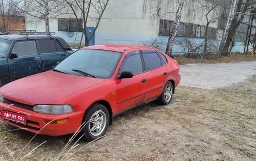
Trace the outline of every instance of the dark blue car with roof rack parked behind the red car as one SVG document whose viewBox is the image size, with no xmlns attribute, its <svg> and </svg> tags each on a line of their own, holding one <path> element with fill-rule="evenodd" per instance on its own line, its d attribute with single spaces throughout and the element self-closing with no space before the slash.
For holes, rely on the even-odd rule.
<svg viewBox="0 0 256 161">
<path fill-rule="evenodd" d="M 73 50 L 52 35 L 0 35 L 0 86 L 50 70 Z"/>
</svg>

